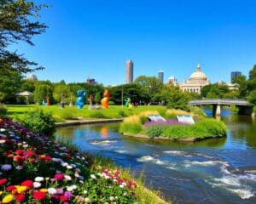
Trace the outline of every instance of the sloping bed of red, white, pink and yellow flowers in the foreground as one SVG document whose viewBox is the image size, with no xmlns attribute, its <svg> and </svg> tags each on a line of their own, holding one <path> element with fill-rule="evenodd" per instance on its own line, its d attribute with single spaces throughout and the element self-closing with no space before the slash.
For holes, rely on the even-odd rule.
<svg viewBox="0 0 256 204">
<path fill-rule="evenodd" d="M 0 118 L 0 203 L 137 203 L 137 184 Z M 2 201 L 2 202 L 1 202 Z"/>
</svg>

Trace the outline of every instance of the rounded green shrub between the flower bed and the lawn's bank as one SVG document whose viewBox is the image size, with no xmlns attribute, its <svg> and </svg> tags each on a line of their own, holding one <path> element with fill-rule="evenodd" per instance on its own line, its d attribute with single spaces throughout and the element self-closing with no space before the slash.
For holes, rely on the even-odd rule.
<svg viewBox="0 0 256 204">
<path fill-rule="evenodd" d="M 55 133 L 55 121 L 50 113 L 44 113 L 43 110 L 36 109 L 28 111 L 22 118 L 18 118 L 26 128 L 34 133 L 40 133 L 47 136 L 53 136 Z"/>
</svg>

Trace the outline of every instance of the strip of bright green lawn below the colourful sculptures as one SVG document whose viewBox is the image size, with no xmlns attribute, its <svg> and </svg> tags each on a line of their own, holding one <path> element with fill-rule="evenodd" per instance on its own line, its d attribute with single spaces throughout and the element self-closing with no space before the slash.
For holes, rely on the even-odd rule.
<svg viewBox="0 0 256 204">
<path fill-rule="evenodd" d="M 51 112 L 56 122 L 63 122 L 66 119 L 72 118 L 121 118 L 124 116 L 131 116 L 138 114 L 143 111 L 166 111 L 165 106 L 160 105 L 142 105 L 137 108 L 129 110 L 125 106 L 122 108 L 121 105 L 110 105 L 108 109 L 102 110 L 89 110 L 88 105 L 84 105 L 83 109 L 77 109 L 75 107 L 65 107 L 61 109 L 59 105 L 7 105 L 8 116 L 10 117 L 22 117 L 26 114 L 26 111 L 32 111 L 34 109 L 42 109 L 45 112 Z"/>
</svg>

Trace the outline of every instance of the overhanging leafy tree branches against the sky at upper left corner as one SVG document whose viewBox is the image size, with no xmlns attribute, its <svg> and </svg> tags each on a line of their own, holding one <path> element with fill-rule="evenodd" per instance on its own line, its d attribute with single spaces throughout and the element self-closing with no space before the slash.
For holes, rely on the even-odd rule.
<svg viewBox="0 0 256 204">
<path fill-rule="evenodd" d="M 23 54 L 8 50 L 14 43 L 26 42 L 34 45 L 32 37 L 45 31 L 46 25 L 36 19 L 46 5 L 36 5 L 26 0 L 0 0 L 0 71 L 26 73 L 43 69 Z"/>
</svg>

